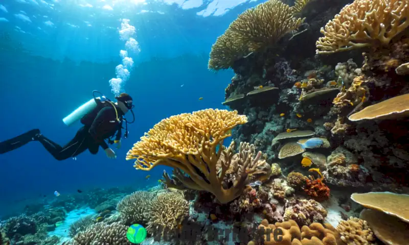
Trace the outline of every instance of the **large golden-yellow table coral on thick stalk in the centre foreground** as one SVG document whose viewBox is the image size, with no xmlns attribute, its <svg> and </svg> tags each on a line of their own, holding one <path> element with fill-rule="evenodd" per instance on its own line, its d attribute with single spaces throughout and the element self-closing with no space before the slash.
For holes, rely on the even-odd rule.
<svg viewBox="0 0 409 245">
<path fill-rule="evenodd" d="M 233 186 L 223 188 L 224 176 L 232 163 L 222 161 L 221 170 L 216 167 L 225 149 L 223 140 L 231 136 L 231 129 L 246 122 L 247 117 L 238 115 L 237 111 L 218 109 L 171 116 L 145 133 L 129 150 L 126 159 L 136 159 L 134 167 L 141 170 L 157 165 L 181 170 L 189 176 L 180 180 L 185 186 L 209 191 L 219 202 L 228 203 L 241 194 L 247 176 L 256 170 L 255 162 L 261 156 L 261 152 L 254 158 L 250 154 L 248 160 L 243 161 Z"/>
</svg>

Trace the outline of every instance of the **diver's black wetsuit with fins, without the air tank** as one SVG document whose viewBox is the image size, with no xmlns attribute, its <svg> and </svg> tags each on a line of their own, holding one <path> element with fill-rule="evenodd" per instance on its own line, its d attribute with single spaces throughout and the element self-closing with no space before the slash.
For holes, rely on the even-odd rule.
<svg viewBox="0 0 409 245">
<path fill-rule="evenodd" d="M 97 107 L 81 118 L 81 123 L 84 126 L 81 127 L 74 138 L 64 146 L 60 146 L 39 134 L 39 130 L 31 130 L 13 139 L 1 142 L 0 153 L 3 154 L 12 151 L 30 141 L 36 140 L 57 160 L 78 156 L 87 149 L 91 154 L 97 154 L 100 145 L 104 150 L 108 148 L 104 140 L 115 135 L 117 131 L 115 140 L 121 138 L 124 114 L 117 105 L 115 105 L 115 107 L 120 122 L 117 120 L 116 111 L 112 105 L 105 105 L 102 109 L 101 107 Z"/>
</svg>

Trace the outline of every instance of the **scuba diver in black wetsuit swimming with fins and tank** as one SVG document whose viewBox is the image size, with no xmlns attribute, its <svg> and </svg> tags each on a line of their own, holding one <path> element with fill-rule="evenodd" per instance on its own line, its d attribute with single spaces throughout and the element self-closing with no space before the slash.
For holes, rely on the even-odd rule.
<svg viewBox="0 0 409 245">
<path fill-rule="evenodd" d="M 98 91 L 94 90 L 93 95 L 95 92 Z M 124 118 L 124 115 L 131 110 L 133 115 L 132 122 L 134 122 L 135 116 L 132 111 L 134 107 L 132 97 L 129 94 L 121 93 L 119 96 L 116 96 L 115 99 L 117 99 L 117 103 L 112 103 L 105 96 L 95 97 L 94 95 L 94 99 L 87 103 L 88 105 L 93 104 L 91 106 L 92 108 L 88 106 L 88 109 L 85 109 L 88 110 L 85 111 L 87 113 L 82 112 L 85 115 L 82 114 L 82 116 L 81 113 L 77 113 L 76 115 L 76 111 L 74 111 L 72 114 L 77 118 L 74 118 L 72 121 L 82 116 L 81 124 L 83 124 L 83 126 L 77 131 L 74 138 L 64 146 L 60 146 L 46 136 L 43 136 L 39 129 L 33 129 L 15 138 L 0 142 L 0 154 L 20 148 L 28 142 L 39 141 L 44 148 L 59 161 L 71 157 L 74 158 L 87 149 L 91 154 L 95 155 L 98 153 L 99 146 L 104 149 L 108 158 L 116 158 L 115 152 L 108 147 L 105 139 L 108 139 L 108 143 L 110 144 L 116 143 L 117 149 L 119 149 L 121 147 L 123 121 L 126 122 L 124 138 L 128 137 L 128 121 Z M 84 106 L 86 106 L 86 104 L 84 104 Z M 67 124 L 65 118 L 64 123 Z M 115 135 L 115 133 L 117 134 Z M 115 136 L 115 140 L 111 139 L 113 136 Z"/>
</svg>

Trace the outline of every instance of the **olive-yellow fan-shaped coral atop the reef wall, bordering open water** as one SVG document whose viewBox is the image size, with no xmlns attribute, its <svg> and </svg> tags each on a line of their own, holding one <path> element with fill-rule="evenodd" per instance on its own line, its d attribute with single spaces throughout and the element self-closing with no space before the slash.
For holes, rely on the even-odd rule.
<svg viewBox="0 0 409 245">
<path fill-rule="evenodd" d="M 209 69 L 228 69 L 238 58 L 274 45 L 303 23 L 304 19 L 293 16 L 295 12 L 297 8 L 290 8 L 279 0 L 246 10 L 213 44 Z"/>
</svg>

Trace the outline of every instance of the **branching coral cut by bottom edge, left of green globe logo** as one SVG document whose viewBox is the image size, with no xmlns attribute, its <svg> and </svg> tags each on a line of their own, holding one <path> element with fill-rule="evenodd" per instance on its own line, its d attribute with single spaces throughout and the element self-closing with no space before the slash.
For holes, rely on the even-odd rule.
<svg viewBox="0 0 409 245">
<path fill-rule="evenodd" d="M 79 232 L 66 245 L 82 244 L 109 244 L 109 245 L 131 245 L 126 238 L 128 226 L 120 223 L 97 223 Z"/>
</svg>

